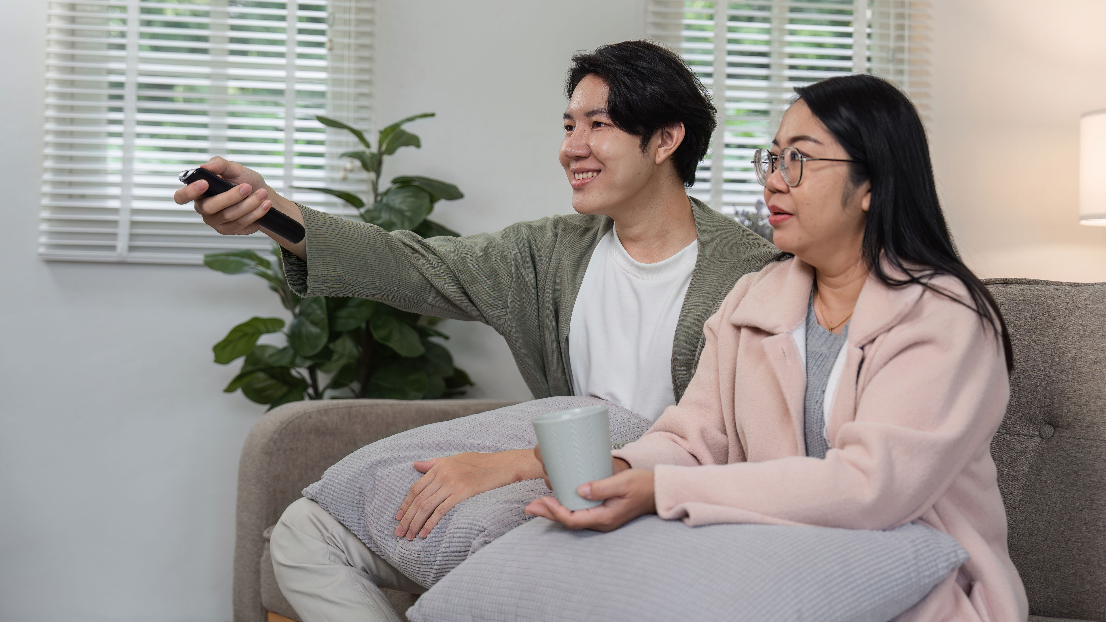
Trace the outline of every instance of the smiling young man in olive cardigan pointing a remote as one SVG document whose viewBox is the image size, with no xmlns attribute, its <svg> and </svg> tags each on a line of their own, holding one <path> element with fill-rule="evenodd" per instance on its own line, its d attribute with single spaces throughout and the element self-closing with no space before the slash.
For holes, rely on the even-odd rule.
<svg viewBox="0 0 1106 622">
<path fill-rule="evenodd" d="M 197 182 L 176 200 L 196 200 L 226 235 L 257 231 L 276 208 L 306 228 L 296 245 L 274 238 L 301 296 L 484 322 L 507 339 L 534 397 L 593 395 L 656 419 L 695 372 L 703 322 L 776 249 L 687 196 L 716 111 L 679 56 L 645 41 L 604 45 L 573 58 L 567 94 L 560 156 L 572 216 L 422 239 L 291 203 L 222 158 L 205 167 L 238 188 L 198 199 L 207 186 Z M 396 536 L 408 539 L 473 495 L 542 475 L 530 449 L 415 467 L 426 475 L 397 514 Z M 285 511 L 271 547 L 278 582 L 305 621 L 398 620 L 377 588 L 422 591 L 307 499 Z"/>
</svg>

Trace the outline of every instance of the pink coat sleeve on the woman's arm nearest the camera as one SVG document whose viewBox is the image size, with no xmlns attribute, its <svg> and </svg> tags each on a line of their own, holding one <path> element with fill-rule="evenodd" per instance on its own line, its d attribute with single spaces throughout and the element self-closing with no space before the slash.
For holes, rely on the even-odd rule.
<svg viewBox="0 0 1106 622">
<path fill-rule="evenodd" d="M 989 450 L 1010 395 L 990 326 L 962 304 L 931 292 L 922 298 L 927 304 L 877 339 L 858 380 L 855 419 L 837 429 L 825 459 L 659 465 L 657 514 L 690 525 L 855 529 L 920 517 Z"/>
</svg>

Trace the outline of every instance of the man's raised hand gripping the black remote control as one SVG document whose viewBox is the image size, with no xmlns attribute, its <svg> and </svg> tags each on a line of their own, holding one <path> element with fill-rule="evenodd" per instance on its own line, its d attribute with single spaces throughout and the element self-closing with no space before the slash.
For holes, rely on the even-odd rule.
<svg viewBox="0 0 1106 622">
<path fill-rule="evenodd" d="M 273 191 L 257 170 L 237 162 L 216 156 L 201 168 L 215 173 L 236 187 L 221 195 L 204 197 L 207 182 L 194 182 L 173 195 L 178 205 L 194 201 L 196 211 L 204 217 L 204 221 L 225 236 L 247 236 L 260 230 L 295 256 L 306 259 L 305 239 L 292 243 L 257 225 L 257 220 L 273 207 L 302 225 L 303 214 L 299 206 Z"/>
</svg>

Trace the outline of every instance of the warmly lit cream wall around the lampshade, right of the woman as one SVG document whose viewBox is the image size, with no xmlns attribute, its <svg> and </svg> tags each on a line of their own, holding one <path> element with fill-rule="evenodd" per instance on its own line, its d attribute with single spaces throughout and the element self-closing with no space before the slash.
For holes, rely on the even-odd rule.
<svg viewBox="0 0 1106 622">
<path fill-rule="evenodd" d="M 933 8 L 933 166 L 968 265 L 1106 281 L 1106 227 L 1078 224 L 1079 114 L 1106 108 L 1106 3 Z"/>
</svg>

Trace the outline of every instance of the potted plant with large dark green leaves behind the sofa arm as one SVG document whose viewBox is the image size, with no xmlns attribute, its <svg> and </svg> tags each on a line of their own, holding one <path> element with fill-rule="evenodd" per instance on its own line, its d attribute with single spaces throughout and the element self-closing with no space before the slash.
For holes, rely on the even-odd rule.
<svg viewBox="0 0 1106 622">
<path fill-rule="evenodd" d="M 422 237 L 460 234 L 430 220 L 439 200 L 461 198 L 457 186 L 419 176 L 392 179 L 379 187 L 384 159 L 400 147 L 420 147 L 419 137 L 403 126 L 424 113 L 380 129 L 374 149 L 364 132 L 345 123 L 317 116 L 320 123 L 349 131 L 364 149 L 347 152 L 368 173 L 371 200 L 344 190 L 304 188 L 341 198 L 357 209 L 366 222 L 388 231 L 407 229 Z M 356 165 L 354 165 L 356 166 Z M 215 362 L 242 366 L 223 390 L 241 391 L 246 397 L 270 408 L 300 400 L 336 397 L 388 397 L 421 400 L 462 394 L 472 381 L 453 365 L 449 351 L 437 339 L 449 339 L 437 330 L 438 318 L 408 313 L 382 302 L 358 298 L 301 298 L 289 287 L 280 247 L 274 259 L 252 250 L 212 252 L 204 263 L 227 274 L 252 273 L 269 283 L 291 313 L 281 318 L 250 318 L 215 344 Z M 258 343 L 264 334 L 283 333 L 286 345 Z"/>
</svg>

